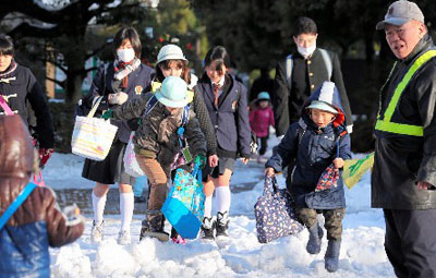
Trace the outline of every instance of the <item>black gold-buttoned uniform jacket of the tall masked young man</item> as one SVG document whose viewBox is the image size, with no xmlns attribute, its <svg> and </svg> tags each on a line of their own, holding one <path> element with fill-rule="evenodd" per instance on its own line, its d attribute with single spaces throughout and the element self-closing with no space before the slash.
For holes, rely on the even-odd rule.
<svg viewBox="0 0 436 278">
<path fill-rule="evenodd" d="M 352 125 L 353 122 L 350 102 L 348 100 L 346 86 L 343 85 L 339 58 L 335 52 L 328 51 L 328 53 L 332 63 L 330 81 L 334 82 L 339 89 L 343 112 L 347 119 L 346 124 L 349 126 Z M 289 90 L 286 74 L 286 59 L 279 61 L 276 67 L 272 105 L 276 119 L 276 134 L 278 136 L 287 132 L 289 124 L 299 120 L 301 108 L 311 94 L 320 86 L 323 82 L 329 81 L 327 67 L 318 49 L 315 49 L 312 57 L 307 60 L 304 60 L 304 57 L 299 52 L 293 53 L 292 59 L 291 92 Z"/>
</svg>

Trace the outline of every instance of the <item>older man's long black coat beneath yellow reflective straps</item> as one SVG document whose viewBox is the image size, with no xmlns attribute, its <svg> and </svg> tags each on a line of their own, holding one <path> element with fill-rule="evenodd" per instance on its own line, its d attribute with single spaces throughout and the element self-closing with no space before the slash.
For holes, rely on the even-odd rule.
<svg viewBox="0 0 436 278">
<path fill-rule="evenodd" d="M 435 49 L 428 36 L 412 53 L 398 61 L 382 88 L 380 117 L 393 89 L 413 61 Z M 434 209 L 436 190 L 417 190 L 417 181 L 436 185 L 436 58 L 422 65 L 402 93 L 391 121 L 424 128 L 424 136 L 410 136 L 375 130 L 376 144 L 372 174 L 372 206 L 388 209 Z"/>
</svg>

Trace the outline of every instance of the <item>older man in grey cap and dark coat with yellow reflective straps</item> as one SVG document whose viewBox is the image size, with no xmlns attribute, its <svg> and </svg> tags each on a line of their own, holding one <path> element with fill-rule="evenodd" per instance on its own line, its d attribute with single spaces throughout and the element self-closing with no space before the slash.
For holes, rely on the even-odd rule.
<svg viewBox="0 0 436 278">
<path fill-rule="evenodd" d="M 393 2 L 376 28 L 398 60 L 380 90 L 372 206 L 396 275 L 436 277 L 436 48 L 414 2 Z"/>
</svg>

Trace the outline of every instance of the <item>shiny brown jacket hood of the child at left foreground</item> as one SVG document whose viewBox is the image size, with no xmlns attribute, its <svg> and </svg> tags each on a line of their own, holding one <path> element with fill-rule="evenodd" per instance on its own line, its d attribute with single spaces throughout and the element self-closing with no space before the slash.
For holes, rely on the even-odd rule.
<svg viewBox="0 0 436 278">
<path fill-rule="evenodd" d="M 29 178 L 34 164 L 31 134 L 20 116 L 0 117 L 0 178 Z"/>
</svg>

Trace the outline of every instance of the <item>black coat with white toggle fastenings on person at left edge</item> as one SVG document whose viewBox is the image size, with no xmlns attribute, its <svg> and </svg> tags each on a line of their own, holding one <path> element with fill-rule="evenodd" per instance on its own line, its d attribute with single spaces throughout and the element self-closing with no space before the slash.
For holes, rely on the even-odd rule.
<svg viewBox="0 0 436 278">
<path fill-rule="evenodd" d="M 36 117 L 36 126 L 33 126 L 33 129 L 36 132 L 35 136 L 38 140 L 39 147 L 55 147 L 53 121 L 50 109 L 44 90 L 34 74 L 29 69 L 19 64 L 11 77 L 15 77 L 15 80 L 10 80 L 9 83 L 0 82 L 0 94 L 5 98 L 11 110 L 19 113 L 27 125 L 29 125 L 27 121 L 29 117 L 27 105 L 29 104 Z M 2 108 L 0 109 L 3 111 Z M 0 114 L 4 114 L 4 112 L 0 112 Z"/>
</svg>

